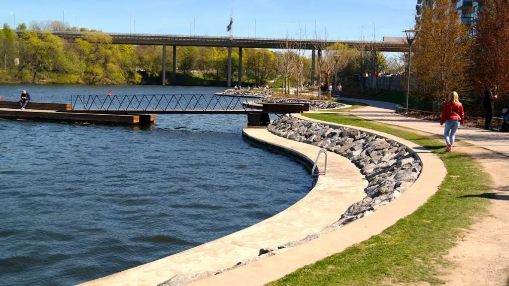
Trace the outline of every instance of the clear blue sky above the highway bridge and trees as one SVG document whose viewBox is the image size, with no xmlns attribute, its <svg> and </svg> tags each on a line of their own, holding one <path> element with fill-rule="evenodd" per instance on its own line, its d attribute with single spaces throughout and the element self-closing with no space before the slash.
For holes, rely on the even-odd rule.
<svg viewBox="0 0 509 286">
<path fill-rule="evenodd" d="M 31 20 L 62 20 L 74 26 L 102 29 L 104 32 L 189 35 L 195 18 L 196 35 L 223 36 L 233 9 L 234 36 L 259 38 L 298 35 L 299 22 L 307 38 L 327 30 L 328 39 L 357 40 L 364 32 L 378 40 L 383 36 L 403 37 L 403 30 L 414 22 L 414 0 L 325 0 L 318 4 L 303 0 L 116 0 L 2 1 L 0 21 L 16 25 Z M 130 25 L 130 15 L 132 22 Z M 375 24 L 373 24 L 375 22 Z M 135 27 L 134 27 L 135 25 Z M 364 26 L 362 28 L 362 26 Z"/>
</svg>

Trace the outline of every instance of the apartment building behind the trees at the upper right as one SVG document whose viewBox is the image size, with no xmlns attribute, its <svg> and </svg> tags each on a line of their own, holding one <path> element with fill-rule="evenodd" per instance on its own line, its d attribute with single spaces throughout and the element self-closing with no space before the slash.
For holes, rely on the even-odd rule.
<svg viewBox="0 0 509 286">
<path fill-rule="evenodd" d="M 456 3 L 456 9 L 461 22 L 471 27 L 473 32 L 477 24 L 478 12 L 483 9 L 484 0 L 451 0 L 451 2 Z M 433 3 L 434 0 L 417 0 L 417 5 L 415 5 L 415 20 L 420 19 L 422 16 L 422 7 L 433 7 Z"/>
</svg>

